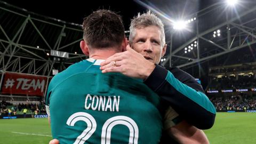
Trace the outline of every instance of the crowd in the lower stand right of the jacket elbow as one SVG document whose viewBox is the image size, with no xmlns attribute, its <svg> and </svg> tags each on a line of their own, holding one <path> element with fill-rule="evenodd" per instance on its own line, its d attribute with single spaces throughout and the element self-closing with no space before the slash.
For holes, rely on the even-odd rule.
<svg viewBox="0 0 256 144">
<path fill-rule="evenodd" d="M 246 111 L 256 110 L 256 99 L 247 94 L 241 93 L 228 97 L 213 97 L 211 98 L 213 105 L 217 111 Z"/>
</svg>

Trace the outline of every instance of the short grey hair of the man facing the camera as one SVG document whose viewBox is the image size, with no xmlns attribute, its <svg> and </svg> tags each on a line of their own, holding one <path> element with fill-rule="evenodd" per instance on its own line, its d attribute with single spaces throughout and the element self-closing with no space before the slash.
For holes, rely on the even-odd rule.
<svg viewBox="0 0 256 144">
<path fill-rule="evenodd" d="M 157 26 L 161 31 L 161 45 L 165 44 L 165 34 L 164 34 L 164 24 L 161 19 L 159 19 L 156 14 L 151 11 L 147 13 L 140 14 L 138 13 L 131 21 L 130 26 L 130 36 L 129 43 L 133 43 L 133 39 L 136 35 L 136 29 L 145 28 L 149 26 Z"/>
</svg>

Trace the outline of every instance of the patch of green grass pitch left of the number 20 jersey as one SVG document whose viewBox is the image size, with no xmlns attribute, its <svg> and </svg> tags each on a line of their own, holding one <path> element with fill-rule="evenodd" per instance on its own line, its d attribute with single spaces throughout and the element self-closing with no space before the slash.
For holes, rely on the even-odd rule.
<svg viewBox="0 0 256 144">
<path fill-rule="evenodd" d="M 51 139 L 47 118 L 0 119 L 0 143 L 47 144 Z"/>
</svg>

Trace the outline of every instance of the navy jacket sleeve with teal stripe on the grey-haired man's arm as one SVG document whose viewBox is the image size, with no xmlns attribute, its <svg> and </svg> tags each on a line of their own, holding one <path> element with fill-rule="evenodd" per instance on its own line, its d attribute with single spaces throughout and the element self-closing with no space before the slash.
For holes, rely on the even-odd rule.
<svg viewBox="0 0 256 144">
<path fill-rule="evenodd" d="M 210 129 L 216 115 L 212 102 L 192 76 L 179 69 L 176 74 L 179 79 L 170 71 L 156 65 L 144 83 L 167 101 L 188 123 L 198 129 Z"/>
</svg>

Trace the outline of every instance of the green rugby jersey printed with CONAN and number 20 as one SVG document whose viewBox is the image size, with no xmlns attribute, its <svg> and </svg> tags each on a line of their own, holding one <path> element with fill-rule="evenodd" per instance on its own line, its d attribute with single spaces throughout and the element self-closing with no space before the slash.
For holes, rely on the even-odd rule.
<svg viewBox="0 0 256 144">
<path fill-rule="evenodd" d="M 60 143 L 158 143 L 159 97 L 139 79 L 102 74 L 88 59 L 54 76 L 46 95 Z"/>
</svg>

